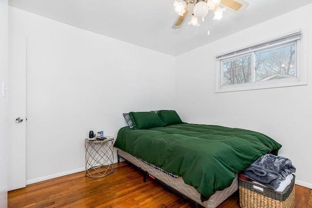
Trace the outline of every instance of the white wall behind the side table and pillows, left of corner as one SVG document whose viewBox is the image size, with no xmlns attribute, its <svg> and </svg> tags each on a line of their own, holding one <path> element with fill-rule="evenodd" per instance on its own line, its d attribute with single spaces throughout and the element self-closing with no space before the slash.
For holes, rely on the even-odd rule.
<svg viewBox="0 0 312 208">
<path fill-rule="evenodd" d="M 84 170 L 84 138 L 122 113 L 174 108 L 175 57 L 13 7 L 9 32 L 27 37 L 28 184 Z"/>
</svg>

